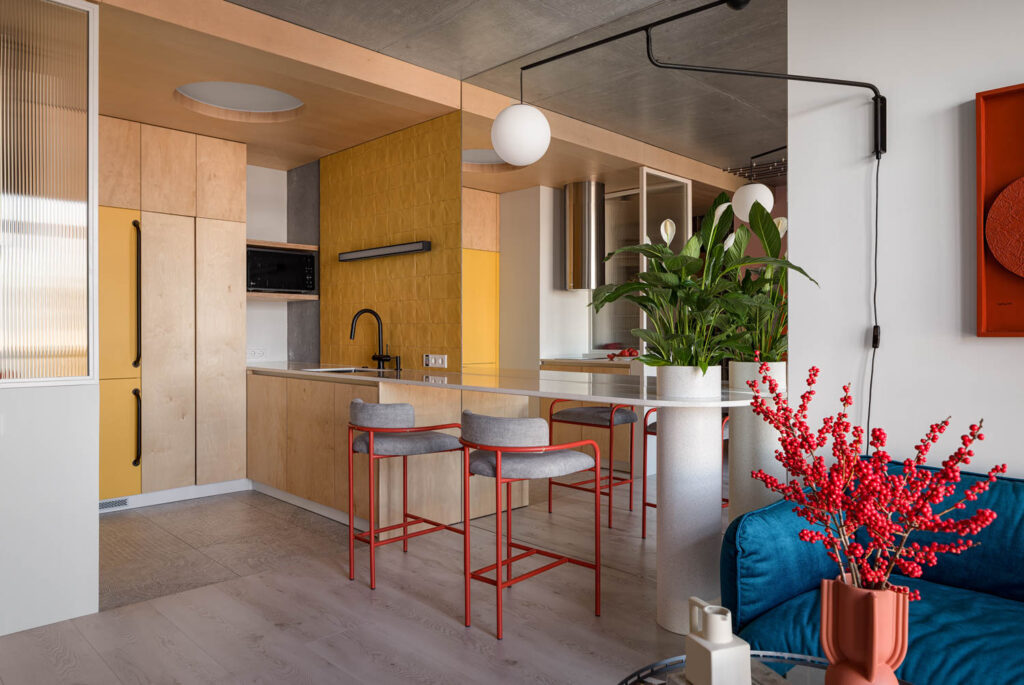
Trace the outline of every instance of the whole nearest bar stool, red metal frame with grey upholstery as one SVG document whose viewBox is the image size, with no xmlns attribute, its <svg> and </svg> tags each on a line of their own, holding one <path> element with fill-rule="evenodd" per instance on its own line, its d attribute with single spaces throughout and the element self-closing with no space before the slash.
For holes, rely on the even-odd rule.
<svg viewBox="0 0 1024 685">
<path fill-rule="evenodd" d="M 555 554 L 536 547 L 512 542 L 512 483 L 531 478 L 552 478 L 581 471 L 601 473 L 601 455 L 593 440 L 579 440 L 565 444 L 550 444 L 548 424 L 544 419 L 507 419 L 488 417 L 472 412 L 462 413 L 463 444 L 463 553 L 466 576 L 466 626 L 470 625 L 469 595 L 472 581 L 495 586 L 498 591 L 498 639 L 502 638 L 502 591 L 538 573 L 551 570 L 565 563 L 594 569 L 594 614 L 601 615 L 601 494 L 594 488 L 594 561 Z M 579 452 L 578 447 L 594 448 L 594 456 Z M 469 479 L 471 476 L 495 479 L 497 528 L 495 534 L 495 563 L 476 570 L 470 563 L 469 547 Z M 505 554 L 502 554 L 502 485 L 508 503 L 505 524 Z M 519 553 L 514 554 L 514 550 Z M 512 575 L 512 564 L 528 556 L 540 555 L 552 559 L 539 568 Z M 504 573 L 502 572 L 504 569 Z M 487 573 L 494 571 L 495 577 Z M 503 579 L 504 575 L 504 579 Z"/>
</svg>

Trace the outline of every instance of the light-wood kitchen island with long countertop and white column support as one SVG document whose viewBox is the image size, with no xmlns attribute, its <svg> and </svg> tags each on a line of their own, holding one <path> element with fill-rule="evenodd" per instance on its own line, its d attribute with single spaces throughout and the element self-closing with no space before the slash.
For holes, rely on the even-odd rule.
<svg viewBox="0 0 1024 685">
<path fill-rule="evenodd" d="M 689 431 L 688 437 L 705 447 L 693 454 L 663 454 L 667 441 L 658 444 L 658 623 L 668 630 L 686 632 L 687 598 L 718 596 L 721 409 L 750 403 L 749 392 L 723 389 L 717 396 L 667 397 L 658 394 L 653 377 L 559 371 L 395 372 L 296 362 L 250 366 L 249 473 L 257 487 L 267 487 L 271 495 L 283 490 L 335 512 L 347 511 L 348 403 L 355 397 L 410 402 L 420 425 L 458 423 L 464 410 L 492 416 L 539 416 L 543 399 L 665 410 L 658 413 L 659 430 L 675 426 Z M 714 444 L 717 455 L 707 448 Z M 377 516 L 382 525 L 397 522 L 401 516 L 400 463 L 392 466 L 387 461 L 380 465 L 376 478 Z M 354 504 L 359 519 L 369 512 L 367 501 L 358 495 L 368 487 L 367 465 L 365 459 L 355 464 Z M 418 457 L 410 460 L 409 468 L 410 510 L 434 520 L 461 520 L 461 456 Z M 481 482 L 472 483 L 471 516 L 494 513 L 494 488 L 484 479 L 473 480 Z M 528 503 L 526 483 L 516 485 L 513 507 Z"/>
</svg>

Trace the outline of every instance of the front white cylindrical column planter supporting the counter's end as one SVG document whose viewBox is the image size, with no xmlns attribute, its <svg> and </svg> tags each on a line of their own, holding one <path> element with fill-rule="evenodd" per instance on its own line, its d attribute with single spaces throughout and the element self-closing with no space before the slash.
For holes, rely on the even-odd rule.
<svg viewBox="0 0 1024 685">
<path fill-rule="evenodd" d="M 721 401 L 722 368 L 658 367 L 659 399 Z M 689 597 L 717 597 L 722 544 L 722 410 L 657 410 L 657 623 L 689 631 Z"/>
</svg>

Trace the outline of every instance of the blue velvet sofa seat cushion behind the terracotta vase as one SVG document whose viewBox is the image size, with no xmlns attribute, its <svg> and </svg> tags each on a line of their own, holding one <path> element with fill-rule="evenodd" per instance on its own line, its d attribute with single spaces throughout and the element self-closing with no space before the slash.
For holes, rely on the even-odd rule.
<svg viewBox="0 0 1024 685">
<path fill-rule="evenodd" d="M 910 602 L 906 659 L 896 675 L 914 685 L 1024 683 L 1020 626 L 1024 602 L 906 579 Z M 823 656 L 820 592 L 810 590 L 750 622 L 739 635 L 753 649 Z"/>
</svg>

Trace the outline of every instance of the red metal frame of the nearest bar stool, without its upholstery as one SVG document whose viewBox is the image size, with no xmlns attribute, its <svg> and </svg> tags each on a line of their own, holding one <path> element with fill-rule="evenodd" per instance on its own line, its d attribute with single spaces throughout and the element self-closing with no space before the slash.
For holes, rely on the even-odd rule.
<svg viewBox="0 0 1024 685">
<path fill-rule="evenodd" d="M 555 554 L 547 550 L 538 549 L 536 547 L 528 547 L 526 545 L 520 545 L 519 543 L 512 542 L 512 483 L 519 482 L 520 480 L 528 480 L 527 478 L 503 478 L 502 477 L 502 455 L 503 454 L 544 454 L 547 452 L 557 452 L 559 449 L 575 449 L 577 447 L 591 446 L 594 448 L 594 468 L 586 469 L 586 471 L 594 471 L 598 476 L 601 474 L 601 453 L 600 448 L 597 446 L 597 442 L 594 440 L 579 440 L 577 442 L 566 442 L 563 444 L 550 444 L 541 445 L 536 447 L 499 447 L 495 445 L 478 444 L 475 442 L 468 442 L 465 439 L 460 441 L 463 444 L 463 521 L 465 531 L 463 532 L 463 564 L 465 568 L 466 576 L 466 627 L 470 626 L 470 584 L 472 581 L 480 581 L 486 583 L 487 585 L 493 585 L 498 592 L 498 639 L 502 639 L 503 632 L 503 606 L 502 606 L 502 590 L 509 588 L 517 583 L 521 583 L 528 577 L 532 577 L 538 573 L 543 573 L 546 570 L 551 570 L 557 566 L 561 566 L 564 563 L 575 564 L 578 566 L 584 566 L 585 568 L 594 569 L 594 615 L 601 615 L 601 496 L 599 489 L 594 489 L 594 561 L 585 561 L 583 559 L 577 559 L 574 557 L 565 556 L 562 554 Z M 470 477 L 476 475 L 470 473 L 469 471 L 469 453 L 472 449 L 483 449 L 485 452 L 495 453 L 495 520 L 497 527 L 495 528 L 495 549 L 496 549 L 496 560 L 495 563 L 487 566 L 482 566 L 476 570 L 472 569 L 472 563 L 470 561 L 470 548 L 469 548 L 469 479 Z M 583 471 L 580 471 L 583 473 Z M 487 476 L 483 476 L 487 477 Z M 505 525 L 505 549 L 506 557 L 502 558 L 502 485 L 505 485 L 505 499 L 508 503 L 508 508 L 505 513 L 506 525 Z M 519 550 L 521 553 L 513 556 L 512 550 Z M 539 554 L 554 561 L 547 563 L 539 568 L 535 568 L 531 571 L 522 573 L 521 575 L 512 575 L 512 564 L 521 559 L 525 559 L 528 556 Z M 502 580 L 501 569 L 505 569 L 505 580 Z M 495 577 L 490 579 L 485 575 L 495 571 Z"/>
</svg>

